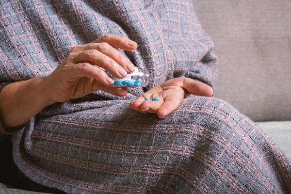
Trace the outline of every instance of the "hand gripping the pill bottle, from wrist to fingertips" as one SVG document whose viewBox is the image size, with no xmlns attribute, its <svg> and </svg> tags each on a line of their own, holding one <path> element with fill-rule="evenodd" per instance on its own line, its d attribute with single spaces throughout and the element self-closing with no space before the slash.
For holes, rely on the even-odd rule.
<svg viewBox="0 0 291 194">
<path fill-rule="evenodd" d="M 137 44 L 126 37 L 111 34 L 74 47 L 63 63 L 45 78 L 44 87 L 49 98 L 64 102 L 97 90 L 125 96 L 127 88 L 107 87 L 114 81 L 99 68 L 107 69 L 117 78 L 124 78 L 134 71 L 134 65 L 117 48 L 134 50 Z"/>
</svg>

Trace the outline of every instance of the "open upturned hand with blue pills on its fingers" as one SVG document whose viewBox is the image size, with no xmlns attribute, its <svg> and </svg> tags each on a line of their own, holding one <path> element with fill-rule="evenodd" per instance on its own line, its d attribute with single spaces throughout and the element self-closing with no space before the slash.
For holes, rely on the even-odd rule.
<svg viewBox="0 0 291 194">
<path fill-rule="evenodd" d="M 181 100 L 189 95 L 211 97 L 212 88 L 190 78 L 175 78 L 148 90 L 130 103 L 133 110 L 141 113 L 157 113 L 160 118 L 178 108 Z M 145 98 L 160 97 L 158 101 L 146 101 Z"/>
</svg>

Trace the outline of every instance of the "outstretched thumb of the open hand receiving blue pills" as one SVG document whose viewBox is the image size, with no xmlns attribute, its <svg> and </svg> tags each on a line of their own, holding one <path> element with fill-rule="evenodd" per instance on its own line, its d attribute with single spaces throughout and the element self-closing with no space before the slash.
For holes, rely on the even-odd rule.
<svg viewBox="0 0 291 194">
<path fill-rule="evenodd" d="M 190 78 L 183 79 L 183 89 L 193 95 L 205 97 L 211 97 L 213 95 L 213 89 L 209 85 L 194 81 Z"/>
</svg>

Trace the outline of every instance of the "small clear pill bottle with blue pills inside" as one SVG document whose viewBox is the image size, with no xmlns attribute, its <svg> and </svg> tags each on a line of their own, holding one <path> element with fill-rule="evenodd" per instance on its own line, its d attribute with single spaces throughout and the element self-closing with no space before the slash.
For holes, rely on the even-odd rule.
<svg viewBox="0 0 291 194">
<path fill-rule="evenodd" d="M 149 72 L 146 68 L 142 67 L 135 67 L 133 73 L 127 74 L 122 79 L 114 77 L 108 70 L 105 70 L 105 72 L 114 80 L 114 83 L 109 85 L 111 87 L 146 87 L 149 82 Z"/>
</svg>

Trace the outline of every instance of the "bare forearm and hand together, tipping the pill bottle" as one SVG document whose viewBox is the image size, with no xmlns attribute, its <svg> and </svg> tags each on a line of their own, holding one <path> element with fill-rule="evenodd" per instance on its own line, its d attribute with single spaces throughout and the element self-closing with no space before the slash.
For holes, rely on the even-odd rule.
<svg viewBox="0 0 291 194">
<path fill-rule="evenodd" d="M 48 77 L 16 81 L 0 92 L 0 122 L 7 131 L 26 123 L 55 102 L 82 97 L 97 90 L 125 96 L 127 88 L 107 87 L 113 80 L 99 67 L 123 78 L 135 67 L 117 48 L 134 50 L 137 43 L 118 35 L 105 35 L 77 46 Z M 99 66 L 99 67 L 98 67 Z"/>
</svg>

